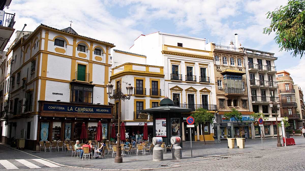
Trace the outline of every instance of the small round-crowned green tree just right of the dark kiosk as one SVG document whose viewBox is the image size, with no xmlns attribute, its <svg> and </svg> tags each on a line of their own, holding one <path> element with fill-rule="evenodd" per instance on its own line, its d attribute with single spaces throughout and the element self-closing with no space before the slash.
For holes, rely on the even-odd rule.
<svg viewBox="0 0 305 171">
<path fill-rule="evenodd" d="M 195 113 L 191 114 L 191 116 L 195 120 L 195 126 L 197 127 L 199 124 L 205 125 L 206 122 L 210 122 L 213 124 L 213 120 L 215 119 L 214 114 L 210 113 L 208 110 L 199 108 L 195 111 Z M 204 137 L 204 130 L 203 130 L 203 141 L 206 144 L 206 138 Z"/>
</svg>

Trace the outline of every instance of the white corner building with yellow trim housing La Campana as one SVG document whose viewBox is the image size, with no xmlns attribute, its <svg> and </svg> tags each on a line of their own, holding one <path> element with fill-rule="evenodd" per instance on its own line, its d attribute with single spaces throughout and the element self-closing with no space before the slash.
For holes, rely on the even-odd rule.
<svg viewBox="0 0 305 171">
<path fill-rule="evenodd" d="M 13 65 L 5 75 L 10 87 L 5 93 L 9 101 L 2 104 L 9 105 L 5 139 L 25 138 L 27 148 L 36 149 L 40 141 L 79 139 L 85 123 L 93 140 L 99 120 L 109 139 L 113 106 L 108 105 L 105 85 L 110 48 L 115 46 L 81 36 L 71 27 L 58 30 L 41 24 L 23 33 L 27 35 L 15 40 L 7 53 L 5 67 Z"/>
</svg>

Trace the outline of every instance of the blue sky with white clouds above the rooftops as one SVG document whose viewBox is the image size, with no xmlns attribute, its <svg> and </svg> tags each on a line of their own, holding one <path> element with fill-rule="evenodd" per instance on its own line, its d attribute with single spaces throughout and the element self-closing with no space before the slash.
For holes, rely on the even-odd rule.
<svg viewBox="0 0 305 171">
<path fill-rule="evenodd" d="M 12 0 L 5 12 L 16 13 L 16 30 L 27 24 L 25 31 L 34 31 L 40 23 L 63 29 L 72 20 L 78 34 L 114 43 L 114 49 L 123 51 L 129 51 L 139 35 L 157 31 L 224 46 L 238 33 L 243 47 L 274 53 L 277 70 L 288 71 L 305 89 L 305 58 L 279 51 L 274 33 L 263 34 L 270 23 L 266 13 L 286 4 L 287 0 Z"/>
</svg>

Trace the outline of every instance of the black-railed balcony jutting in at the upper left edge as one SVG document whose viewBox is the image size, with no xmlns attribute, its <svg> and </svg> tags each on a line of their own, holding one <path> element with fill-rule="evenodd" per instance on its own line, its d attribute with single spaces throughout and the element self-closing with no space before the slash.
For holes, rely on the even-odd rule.
<svg viewBox="0 0 305 171">
<path fill-rule="evenodd" d="M 12 34 L 15 31 L 15 29 L 13 29 L 13 26 L 15 24 L 15 13 L 10 14 L 10 13 L 5 12 L 2 22 L 0 22 L 0 51 L 1 52 L 6 47 L 6 45 L 9 42 L 9 39 L 11 38 Z"/>
</svg>

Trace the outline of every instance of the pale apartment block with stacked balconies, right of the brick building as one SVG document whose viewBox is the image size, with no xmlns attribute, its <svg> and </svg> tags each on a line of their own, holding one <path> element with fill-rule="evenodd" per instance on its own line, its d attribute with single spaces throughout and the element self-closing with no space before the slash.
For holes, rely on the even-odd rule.
<svg viewBox="0 0 305 171">
<path fill-rule="evenodd" d="M 245 61 L 247 61 L 246 75 L 248 81 L 248 92 L 250 101 L 250 110 L 254 113 L 263 113 L 268 118 L 264 122 L 262 133 L 265 137 L 277 136 L 277 124 L 281 121 L 279 111 L 271 110 L 269 102 L 278 102 L 278 83 L 276 80 L 276 66 L 274 61 L 277 60 L 273 53 L 258 51 L 244 48 Z M 260 138 L 261 127 L 254 123 L 254 138 Z M 281 131 L 280 131 L 281 134 Z"/>
</svg>

